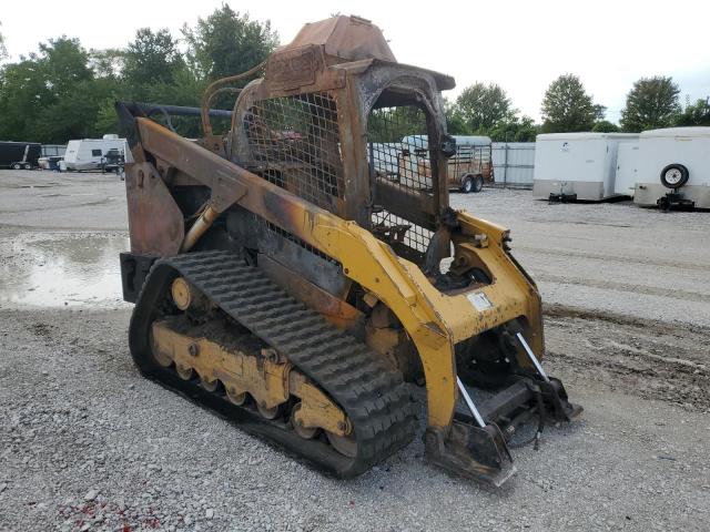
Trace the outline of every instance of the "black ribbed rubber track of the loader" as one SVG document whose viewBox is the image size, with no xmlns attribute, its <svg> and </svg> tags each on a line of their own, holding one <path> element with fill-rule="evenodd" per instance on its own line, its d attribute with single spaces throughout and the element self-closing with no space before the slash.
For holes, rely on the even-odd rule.
<svg viewBox="0 0 710 532">
<path fill-rule="evenodd" d="M 402 376 L 388 369 L 382 357 L 363 342 L 328 324 L 234 253 L 197 252 L 159 259 L 145 280 L 134 316 L 142 304 L 149 304 L 143 301 L 143 294 L 155 294 L 146 287 L 160 285 L 165 291 L 175 275 L 186 278 L 222 310 L 283 354 L 343 408 L 353 424 L 357 456 L 345 459 L 337 453 L 337 460 L 326 460 L 322 467 L 341 477 L 353 477 L 409 443 L 415 413 Z M 142 310 L 145 316 L 146 309 Z M 298 442 L 301 448 L 304 441 Z M 317 456 L 307 458 L 317 461 Z M 338 466 L 334 467 L 336 462 Z"/>
</svg>

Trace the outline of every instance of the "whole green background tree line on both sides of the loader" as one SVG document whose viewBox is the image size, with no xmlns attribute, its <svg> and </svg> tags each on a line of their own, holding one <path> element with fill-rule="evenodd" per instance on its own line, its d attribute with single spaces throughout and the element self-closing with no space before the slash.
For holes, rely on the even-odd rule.
<svg viewBox="0 0 710 532">
<path fill-rule="evenodd" d="M 251 20 L 227 4 L 181 38 L 168 29 L 139 29 L 124 49 L 87 50 L 62 35 L 40 43 L 37 53 L 0 68 L 0 139 L 47 144 L 116 132 L 116 100 L 200 105 L 203 90 L 219 78 L 244 72 L 278 45 L 268 21 Z M 0 34 L 0 59 L 7 57 Z M 627 94 L 620 124 L 605 119 L 578 76 L 550 83 L 541 104 L 542 121 L 521 115 L 498 84 L 475 83 L 446 100 L 449 133 L 488 135 L 494 141 L 534 141 L 538 133 L 639 132 L 671 125 L 710 125 L 709 99 L 681 106 L 671 78 L 642 78 Z M 226 100 L 217 104 L 226 104 Z M 180 133 L 200 134 L 194 120 L 174 120 Z"/>
</svg>

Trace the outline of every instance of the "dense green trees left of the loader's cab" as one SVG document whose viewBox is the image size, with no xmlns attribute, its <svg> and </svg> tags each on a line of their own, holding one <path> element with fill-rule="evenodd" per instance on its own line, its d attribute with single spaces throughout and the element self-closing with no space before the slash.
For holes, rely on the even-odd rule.
<svg viewBox="0 0 710 532">
<path fill-rule="evenodd" d="M 211 81 L 251 69 L 277 44 L 268 21 L 227 4 L 184 24 L 180 40 L 150 28 L 139 29 L 124 49 L 87 50 L 79 39 L 50 39 L 0 68 L 0 140 L 63 144 L 118 132 L 116 100 L 197 106 Z M 173 125 L 200 134 L 195 120 Z"/>
</svg>

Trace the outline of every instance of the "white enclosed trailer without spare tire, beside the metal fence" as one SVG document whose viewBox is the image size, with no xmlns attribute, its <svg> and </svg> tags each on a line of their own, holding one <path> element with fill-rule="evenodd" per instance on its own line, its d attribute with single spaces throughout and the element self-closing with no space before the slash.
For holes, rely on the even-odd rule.
<svg viewBox="0 0 710 532">
<path fill-rule="evenodd" d="M 637 141 L 633 133 L 537 135 L 532 194 L 561 201 L 615 196 L 618 146 Z"/>
</svg>

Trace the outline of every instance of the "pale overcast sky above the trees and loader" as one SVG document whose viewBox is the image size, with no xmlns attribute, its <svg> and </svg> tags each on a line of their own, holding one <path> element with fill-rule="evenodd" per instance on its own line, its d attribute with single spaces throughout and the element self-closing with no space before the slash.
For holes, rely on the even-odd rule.
<svg viewBox="0 0 710 532">
<path fill-rule="evenodd" d="M 88 49 L 122 48 L 143 27 L 180 37 L 222 0 L 0 0 L 0 31 L 10 59 L 52 37 L 78 37 Z M 229 1 L 252 19 L 271 20 L 282 43 L 301 25 L 334 13 L 372 20 L 402 63 L 453 75 L 455 98 L 477 81 L 501 85 L 513 104 L 536 121 L 549 83 L 577 74 L 595 103 L 618 122 L 626 93 L 642 76 L 672 75 L 681 103 L 710 95 L 707 0 Z M 170 103 L 170 102 L 164 102 Z"/>
</svg>

